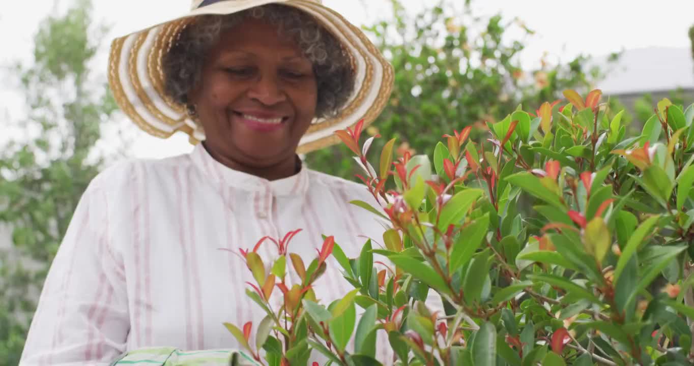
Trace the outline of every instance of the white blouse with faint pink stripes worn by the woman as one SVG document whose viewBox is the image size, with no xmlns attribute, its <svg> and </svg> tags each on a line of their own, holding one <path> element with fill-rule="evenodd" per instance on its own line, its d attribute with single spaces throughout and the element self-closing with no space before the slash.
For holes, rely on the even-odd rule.
<svg viewBox="0 0 694 366">
<path fill-rule="evenodd" d="M 321 234 L 358 256 L 364 237 L 381 241 L 383 226 L 350 200 L 373 202 L 364 186 L 307 168 L 277 181 L 232 171 L 200 145 L 108 168 L 84 193 L 51 265 L 21 365 L 108 365 L 142 347 L 237 348 L 222 323 L 253 320 L 255 331 L 264 313 L 244 293 L 252 276 L 242 259 L 219 248 L 238 252 L 303 229 L 289 252 L 306 263 Z M 269 245 L 265 263 L 276 255 Z M 330 259 L 316 294 L 328 304 L 351 289 Z"/>
</svg>

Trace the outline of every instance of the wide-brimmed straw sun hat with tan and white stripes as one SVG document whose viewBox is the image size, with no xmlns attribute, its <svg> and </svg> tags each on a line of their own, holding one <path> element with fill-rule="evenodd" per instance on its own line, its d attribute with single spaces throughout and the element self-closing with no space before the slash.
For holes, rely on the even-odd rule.
<svg viewBox="0 0 694 366">
<path fill-rule="evenodd" d="M 153 136 L 165 139 L 181 131 L 189 134 L 191 143 L 204 140 L 201 126 L 189 118 L 185 106 L 164 93 L 162 58 L 196 16 L 227 15 L 268 3 L 281 3 L 312 15 L 341 42 L 355 70 L 355 89 L 342 110 L 330 119 L 314 119 L 297 153 L 337 143 L 333 132 L 361 119 L 364 125 L 371 123 L 390 96 L 393 68 L 361 30 L 320 0 L 193 0 L 187 15 L 117 38 L 111 45 L 108 76 L 121 110 Z"/>
</svg>

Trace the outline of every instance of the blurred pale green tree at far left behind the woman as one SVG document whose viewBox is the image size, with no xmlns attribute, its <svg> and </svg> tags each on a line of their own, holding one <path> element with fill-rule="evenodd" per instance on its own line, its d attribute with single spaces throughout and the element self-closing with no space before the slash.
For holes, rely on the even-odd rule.
<svg viewBox="0 0 694 366">
<path fill-rule="evenodd" d="M 49 264 L 99 172 L 101 125 L 116 109 L 105 76 L 90 73 L 105 34 L 91 12 L 89 0 L 77 0 L 44 19 L 33 60 L 8 73 L 26 114 L 3 128 L 9 133 L 0 145 L 0 225 L 12 234 L 0 247 L 0 366 L 19 363 Z"/>
</svg>

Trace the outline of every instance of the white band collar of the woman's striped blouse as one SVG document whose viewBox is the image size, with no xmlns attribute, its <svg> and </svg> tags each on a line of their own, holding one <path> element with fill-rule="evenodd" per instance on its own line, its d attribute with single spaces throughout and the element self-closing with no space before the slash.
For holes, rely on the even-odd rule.
<svg viewBox="0 0 694 366">
<path fill-rule="evenodd" d="M 222 186 L 232 186 L 245 191 L 272 191 L 275 196 L 303 195 L 308 189 L 308 172 L 305 166 L 291 177 L 280 180 L 266 180 L 248 173 L 235 171 L 217 162 L 202 143 L 198 143 L 191 153 L 194 164 L 212 182 Z"/>
</svg>

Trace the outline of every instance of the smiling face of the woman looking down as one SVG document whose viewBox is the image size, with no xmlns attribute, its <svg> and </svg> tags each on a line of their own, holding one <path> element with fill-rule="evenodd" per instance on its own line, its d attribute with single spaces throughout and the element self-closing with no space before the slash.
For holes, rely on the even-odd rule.
<svg viewBox="0 0 694 366">
<path fill-rule="evenodd" d="M 278 28 L 247 19 L 222 33 L 190 94 L 214 156 L 248 168 L 291 160 L 316 112 L 310 60 Z"/>
</svg>

